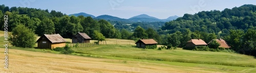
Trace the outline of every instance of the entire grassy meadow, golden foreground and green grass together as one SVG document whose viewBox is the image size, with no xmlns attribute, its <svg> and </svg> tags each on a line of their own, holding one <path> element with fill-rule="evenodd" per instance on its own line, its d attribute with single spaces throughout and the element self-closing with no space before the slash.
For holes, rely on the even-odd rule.
<svg viewBox="0 0 256 73">
<path fill-rule="evenodd" d="M 0 34 L 3 32 L 1 31 Z M 4 37 L 0 35 L 0 44 Z M 66 39 L 71 41 L 71 39 Z M 92 40 L 93 42 L 95 40 Z M 61 54 L 49 49 L 9 46 L 9 69 L 0 72 L 243 72 L 256 71 L 252 56 L 229 52 L 146 50 L 135 41 L 106 39 L 107 44 L 72 48 L 76 53 Z M 36 45 L 35 45 L 36 46 Z M 0 46 L 4 63 L 4 46 Z"/>
</svg>

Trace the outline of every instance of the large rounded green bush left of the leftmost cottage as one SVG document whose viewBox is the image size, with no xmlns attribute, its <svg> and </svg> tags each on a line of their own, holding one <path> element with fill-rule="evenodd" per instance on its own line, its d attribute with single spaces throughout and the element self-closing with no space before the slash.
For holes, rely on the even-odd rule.
<svg viewBox="0 0 256 73">
<path fill-rule="evenodd" d="M 10 43 L 16 47 L 33 47 L 35 44 L 35 34 L 24 25 L 18 25 L 10 35 Z"/>
</svg>

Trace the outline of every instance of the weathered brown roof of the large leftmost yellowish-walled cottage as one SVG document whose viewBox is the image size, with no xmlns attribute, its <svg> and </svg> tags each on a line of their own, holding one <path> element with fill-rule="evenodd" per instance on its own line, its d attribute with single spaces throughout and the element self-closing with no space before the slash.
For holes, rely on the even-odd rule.
<svg viewBox="0 0 256 73">
<path fill-rule="evenodd" d="M 44 34 L 36 42 L 38 42 L 44 36 L 48 40 L 50 40 L 52 43 L 66 42 L 66 40 L 64 38 L 62 38 L 59 34 L 52 34 L 52 35 Z"/>
</svg>

